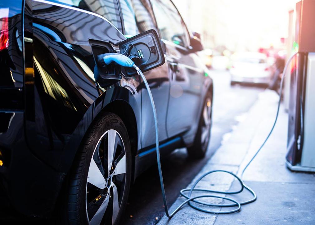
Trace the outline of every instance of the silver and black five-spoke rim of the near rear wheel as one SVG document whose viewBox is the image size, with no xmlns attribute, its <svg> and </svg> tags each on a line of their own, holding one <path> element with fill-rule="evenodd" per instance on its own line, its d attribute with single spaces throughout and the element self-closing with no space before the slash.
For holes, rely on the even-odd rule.
<svg viewBox="0 0 315 225">
<path fill-rule="evenodd" d="M 114 224 L 126 183 L 126 153 L 116 130 L 98 140 L 89 165 L 86 184 L 86 214 L 91 225 Z"/>
</svg>

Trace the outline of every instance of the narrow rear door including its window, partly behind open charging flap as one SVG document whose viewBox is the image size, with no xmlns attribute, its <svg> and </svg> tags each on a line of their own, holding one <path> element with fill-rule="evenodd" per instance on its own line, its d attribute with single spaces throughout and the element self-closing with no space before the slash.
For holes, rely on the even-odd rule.
<svg viewBox="0 0 315 225">
<path fill-rule="evenodd" d="M 149 29 L 157 30 L 152 8 L 148 0 L 120 0 L 120 6 L 123 17 L 124 34 L 127 38 Z M 163 141 L 168 138 L 165 126 L 170 84 L 168 67 L 166 63 L 164 63 L 158 68 L 147 71 L 144 75 L 150 85 L 154 98 L 157 109 L 160 141 Z M 140 88 L 142 98 L 141 145 L 142 148 L 146 150 L 146 147 L 155 144 L 154 120 L 149 95 L 143 82 Z"/>
</svg>

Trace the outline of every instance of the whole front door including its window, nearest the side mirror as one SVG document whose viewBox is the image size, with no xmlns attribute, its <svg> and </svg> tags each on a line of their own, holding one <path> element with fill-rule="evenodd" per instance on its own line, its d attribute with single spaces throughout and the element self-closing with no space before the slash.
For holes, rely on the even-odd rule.
<svg viewBox="0 0 315 225">
<path fill-rule="evenodd" d="M 188 131 L 184 141 L 191 143 L 198 126 L 204 66 L 196 53 L 189 53 L 189 33 L 174 4 L 169 0 L 151 2 L 170 72 L 167 131 L 169 137 Z"/>
</svg>

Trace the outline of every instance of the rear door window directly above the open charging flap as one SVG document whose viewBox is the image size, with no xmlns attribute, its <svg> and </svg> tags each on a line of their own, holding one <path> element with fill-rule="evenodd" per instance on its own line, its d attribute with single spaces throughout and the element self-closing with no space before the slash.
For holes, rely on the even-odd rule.
<svg viewBox="0 0 315 225">
<path fill-rule="evenodd" d="M 150 29 L 157 30 L 148 0 L 120 0 L 120 8 L 127 38 Z"/>
</svg>

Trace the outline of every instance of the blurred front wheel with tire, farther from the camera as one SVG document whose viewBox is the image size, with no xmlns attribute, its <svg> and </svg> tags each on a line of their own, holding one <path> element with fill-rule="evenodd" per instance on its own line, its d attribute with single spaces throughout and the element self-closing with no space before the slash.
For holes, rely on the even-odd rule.
<svg viewBox="0 0 315 225">
<path fill-rule="evenodd" d="M 205 156 L 211 136 L 212 126 L 212 92 L 207 92 L 199 119 L 194 144 L 187 148 L 189 157 L 201 159 Z"/>
</svg>

